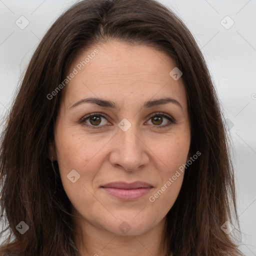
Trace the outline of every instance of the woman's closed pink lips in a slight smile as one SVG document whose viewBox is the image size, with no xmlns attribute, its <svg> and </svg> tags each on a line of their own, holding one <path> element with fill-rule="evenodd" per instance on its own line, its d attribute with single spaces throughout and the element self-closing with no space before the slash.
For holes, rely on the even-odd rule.
<svg viewBox="0 0 256 256">
<path fill-rule="evenodd" d="M 132 183 L 121 181 L 111 182 L 100 187 L 108 194 L 122 200 L 138 199 L 139 197 L 147 194 L 151 188 L 153 188 L 152 185 L 141 181 L 135 181 Z"/>
</svg>

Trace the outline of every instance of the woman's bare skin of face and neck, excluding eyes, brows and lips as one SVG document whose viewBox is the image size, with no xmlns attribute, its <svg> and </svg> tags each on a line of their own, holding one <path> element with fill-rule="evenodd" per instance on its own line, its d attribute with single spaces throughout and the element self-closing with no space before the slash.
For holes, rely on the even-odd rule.
<svg viewBox="0 0 256 256">
<path fill-rule="evenodd" d="M 174 80 L 169 75 L 175 63 L 163 52 L 115 40 L 80 52 L 68 74 L 95 48 L 99 52 L 63 89 L 55 146 L 50 147 L 72 203 L 77 232 L 74 242 L 80 255 L 165 255 L 161 234 L 183 173 L 155 201 L 149 201 L 149 196 L 189 159 L 190 125 L 184 84 L 181 78 Z M 70 108 L 86 97 L 111 100 L 117 108 L 92 103 Z M 143 108 L 145 101 L 163 97 L 176 99 L 182 108 L 174 103 Z M 79 123 L 83 116 L 95 112 L 107 116 L 100 116 L 101 122 L 96 122 L 101 128 L 89 129 Z M 157 112 L 171 116 L 175 123 L 166 117 L 154 121 L 150 114 L 157 116 Z M 118 126 L 123 118 L 131 124 L 126 131 Z M 95 124 L 89 118 L 84 122 Z M 157 128 L 167 123 L 170 125 Z M 80 175 L 74 183 L 67 178 L 72 169 Z M 137 180 L 153 188 L 135 200 L 115 198 L 100 188 L 112 181 Z M 130 227 L 127 233 L 118 228 L 123 221 Z"/>
</svg>

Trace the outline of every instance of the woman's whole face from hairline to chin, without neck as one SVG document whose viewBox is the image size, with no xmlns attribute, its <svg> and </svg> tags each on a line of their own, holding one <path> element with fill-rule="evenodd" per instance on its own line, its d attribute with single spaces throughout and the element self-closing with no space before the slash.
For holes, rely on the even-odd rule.
<svg viewBox="0 0 256 256">
<path fill-rule="evenodd" d="M 73 62 L 55 159 L 81 226 L 138 235 L 163 224 L 190 145 L 185 88 L 169 74 L 174 67 L 158 50 L 113 40 Z"/>
</svg>

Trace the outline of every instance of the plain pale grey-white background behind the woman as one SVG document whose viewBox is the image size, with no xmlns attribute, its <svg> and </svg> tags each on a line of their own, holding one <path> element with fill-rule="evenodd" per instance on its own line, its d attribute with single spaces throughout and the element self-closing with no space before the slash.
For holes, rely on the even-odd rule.
<svg viewBox="0 0 256 256">
<path fill-rule="evenodd" d="M 75 0 L 0 0 L 0 120 L 19 78 L 54 20 Z M 256 0 L 160 0 L 199 44 L 230 128 L 236 175 L 240 249 L 256 255 Z M 20 29 L 15 21 L 25 16 Z M 232 20 L 234 24 L 228 27 Z M 224 18 L 224 19 L 223 19 Z M 23 23 L 24 24 L 24 23 Z M 219 177 L 221 178 L 221 177 Z"/>
</svg>

